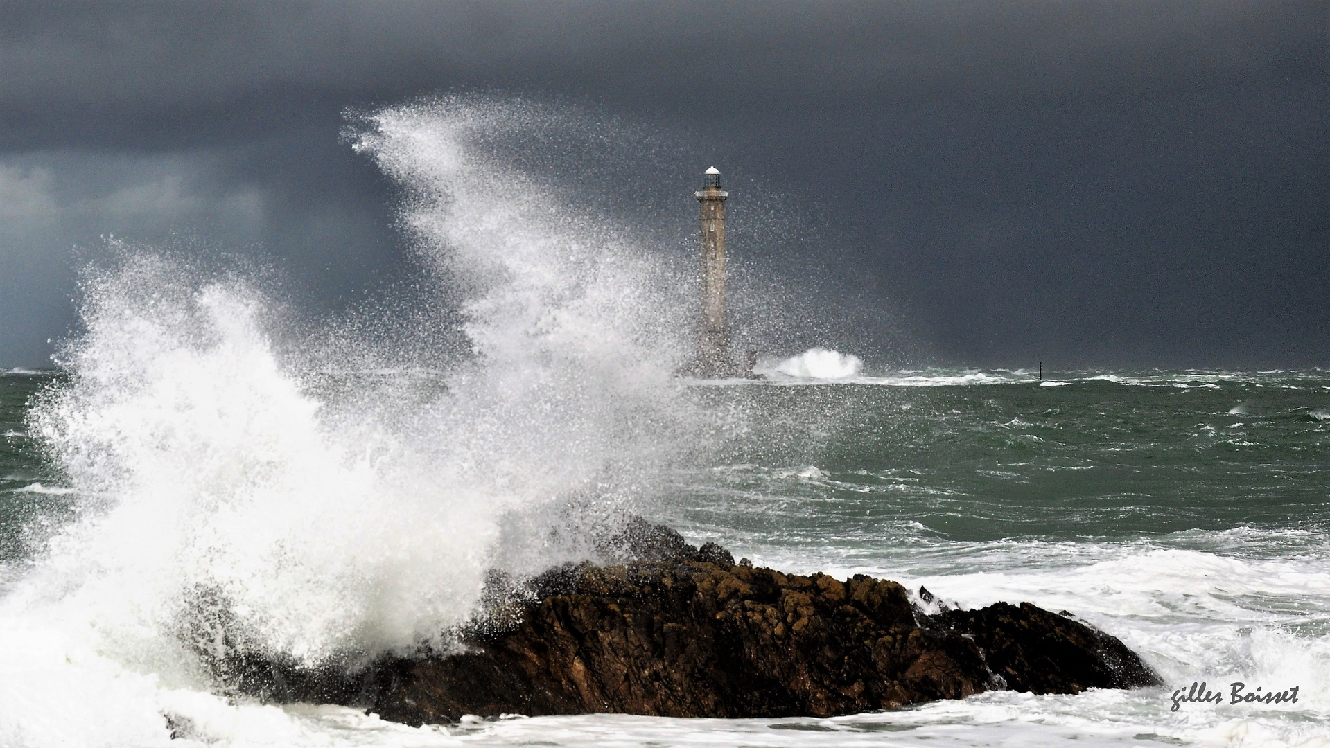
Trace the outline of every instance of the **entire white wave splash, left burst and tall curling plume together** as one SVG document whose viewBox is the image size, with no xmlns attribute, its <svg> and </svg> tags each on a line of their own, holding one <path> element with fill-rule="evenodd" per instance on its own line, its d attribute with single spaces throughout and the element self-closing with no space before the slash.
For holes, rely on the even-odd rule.
<svg viewBox="0 0 1330 748">
<path fill-rule="evenodd" d="M 68 383 L 32 415 L 78 515 L 7 601 L 19 615 L 190 687 L 225 688 L 210 676 L 246 652 L 354 666 L 447 647 L 488 570 L 593 554 L 598 525 L 705 445 L 672 377 L 688 329 L 661 304 L 672 280 L 468 140 L 505 116 L 407 106 L 355 141 L 463 299 L 472 351 L 450 371 L 329 388 L 310 365 L 326 357 L 242 272 L 122 247 L 88 276 Z"/>
</svg>

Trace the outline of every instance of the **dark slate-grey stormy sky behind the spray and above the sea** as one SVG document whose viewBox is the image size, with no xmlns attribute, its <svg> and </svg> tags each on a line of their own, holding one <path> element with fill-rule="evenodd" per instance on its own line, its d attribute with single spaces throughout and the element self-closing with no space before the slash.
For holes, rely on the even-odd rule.
<svg viewBox="0 0 1330 748">
<path fill-rule="evenodd" d="M 587 97 L 787 186 L 829 256 L 773 256 L 896 299 L 940 360 L 1326 364 L 1327 27 L 1323 3 L 9 3 L 0 199 L 28 207 L 0 262 L 49 303 L 0 299 L 27 315 L 0 355 L 31 361 L 52 258 L 110 229 L 262 242 L 354 294 L 400 250 L 342 112 L 479 88 Z"/>
</svg>

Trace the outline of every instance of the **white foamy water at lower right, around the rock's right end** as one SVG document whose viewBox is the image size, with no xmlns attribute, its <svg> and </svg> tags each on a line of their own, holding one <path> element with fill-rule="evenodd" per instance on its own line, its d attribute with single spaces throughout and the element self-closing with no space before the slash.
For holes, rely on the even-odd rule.
<svg viewBox="0 0 1330 748">
<path fill-rule="evenodd" d="M 902 549 L 884 542 L 876 553 L 859 551 L 841 562 L 827 545 L 797 551 L 773 543 L 735 551 L 793 571 L 871 574 L 911 590 L 922 585 L 963 607 L 1028 601 L 1071 610 L 1121 638 L 1166 684 L 1079 696 L 998 692 L 926 704 L 908 715 L 880 715 L 892 724 L 887 744 L 1138 745 L 1137 736 L 1150 735 L 1150 740 L 1218 745 L 1317 745 L 1330 724 L 1330 638 L 1321 628 L 1299 628 L 1323 627 L 1330 615 L 1325 539 L 1314 531 L 1237 529 L 1182 533 L 1170 542 L 1208 550 L 1160 547 L 1153 541 Z M 1258 549 L 1283 558 L 1250 558 Z M 1225 694 L 1236 680 L 1249 690 L 1298 686 L 1299 701 L 1182 704 L 1170 711 L 1172 690 L 1193 680 L 1208 680 Z M 831 745 L 857 744 L 841 728 L 818 735 Z"/>
</svg>

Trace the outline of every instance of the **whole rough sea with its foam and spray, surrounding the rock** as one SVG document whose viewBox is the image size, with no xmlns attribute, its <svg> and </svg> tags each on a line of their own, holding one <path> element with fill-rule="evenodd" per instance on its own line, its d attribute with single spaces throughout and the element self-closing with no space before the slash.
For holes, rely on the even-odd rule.
<svg viewBox="0 0 1330 748">
<path fill-rule="evenodd" d="M 681 379 L 668 263 L 487 150 L 533 117 L 444 100 L 348 136 L 407 194 L 422 283 L 464 296 L 451 364 L 402 365 L 419 320 L 293 327 L 262 279 L 180 252 L 85 272 L 60 368 L 0 373 L 0 745 L 1330 745 L 1330 372 L 813 349 Z M 488 570 L 585 558 L 632 514 L 785 571 L 1071 611 L 1166 686 L 410 728 L 206 667 L 446 648 Z M 1222 703 L 1174 699 L 1193 683 Z"/>
</svg>

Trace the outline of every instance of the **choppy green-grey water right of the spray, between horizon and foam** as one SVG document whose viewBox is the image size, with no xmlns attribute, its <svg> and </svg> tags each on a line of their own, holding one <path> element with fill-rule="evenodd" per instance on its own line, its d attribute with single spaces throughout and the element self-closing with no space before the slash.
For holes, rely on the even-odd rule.
<svg viewBox="0 0 1330 748">
<path fill-rule="evenodd" d="M 718 389 L 758 416 L 678 476 L 680 514 L 849 545 L 1325 530 L 1330 372 L 1052 376 Z"/>
</svg>

